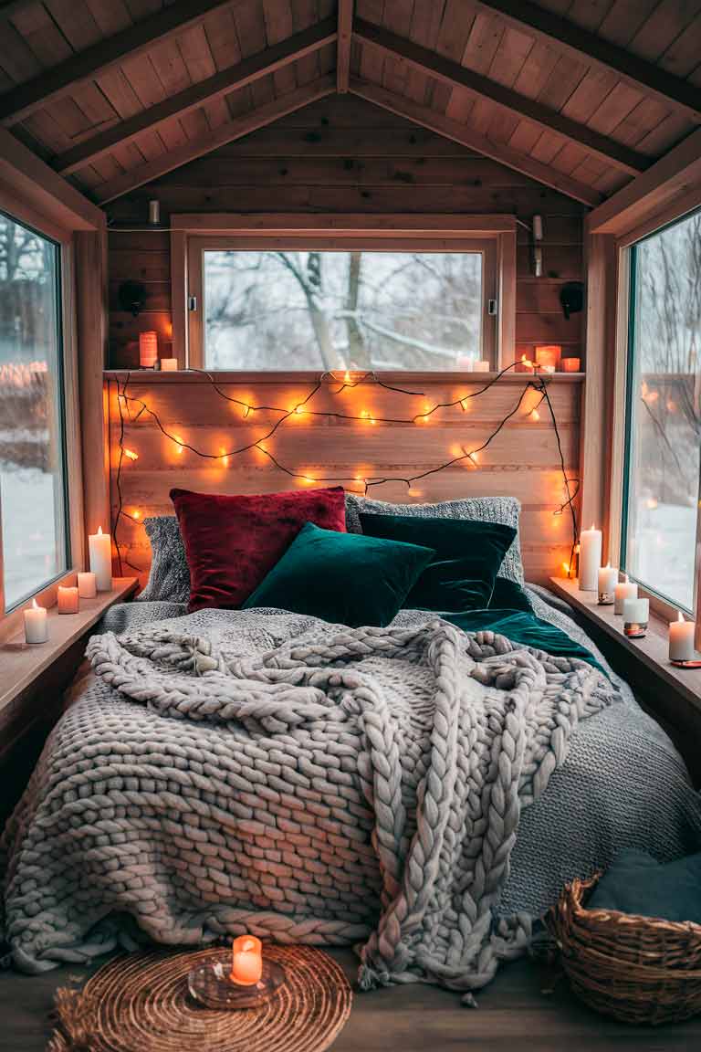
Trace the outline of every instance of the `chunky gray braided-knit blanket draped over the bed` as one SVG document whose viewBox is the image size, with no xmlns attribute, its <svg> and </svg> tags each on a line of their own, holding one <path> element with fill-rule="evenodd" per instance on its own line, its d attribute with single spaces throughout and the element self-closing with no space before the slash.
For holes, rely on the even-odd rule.
<svg viewBox="0 0 701 1052">
<path fill-rule="evenodd" d="M 493 913 L 521 810 L 618 700 L 583 662 L 439 620 L 201 611 L 88 656 L 104 702 L 69 709 L 5 833 L 26 970 L 104 950 L 88 931 L 126 911 L 165 943 L 364 940 L 364 987 L 469 999 L 530 936 Z"/>
</svg>

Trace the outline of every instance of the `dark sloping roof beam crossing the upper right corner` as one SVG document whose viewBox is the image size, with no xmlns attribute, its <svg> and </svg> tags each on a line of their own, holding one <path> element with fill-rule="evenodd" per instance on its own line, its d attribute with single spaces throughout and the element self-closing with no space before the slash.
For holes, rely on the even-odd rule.
<svg viewBox="0 0 701 1052">
<path fill-rule="evenodd" d="M 550 42 L 556 41 L 558 47 L 572 59 L 577 61 L 584 59 L 590 65 L 607 66 L 633 87 L 644 89 L 646 94 L 673 103 L 678 109 L 684 110 L 692 120 L 701 122 L 701 95 L 699 90 L 646 59 L 639 58 L 638 54 L 634 54 L 640 49 L 639 41 L 644 42 L 648 37 L 655 37 L 657 41 L 663 39 L 663 25 L 667 26 L 675 5 L 681 5 L 687 12 L 689 7 L 693 8 L 692 14 L 686 16 L 688 23 L 688 20 L 698 13 L 701 0 L 662 0 L 660 7 L 665 9 L 664 17 L 657 16 L 656 11 L 636 35 L 631 50 L 610 43 L 558 14 L 544 11 L 543 7 L 531 2 L 531 0 L 475 0 L 475 2 L 480 8 L 496 12 L 507 20 L 520 25 L 521 28 L 528 26 L 538 37 L 545 38 Z M 656 23 L 660 23 L 657 31 L 654 27 L 650 28 L 650 24 L 654 20 Z M 664 33 L 666 33 L 666 28 Z M 674 38 L 676 39 L 678 33 L 675 33 Z M 668 46 L 671 42 L 667 40 L 664 46 Z"/>
</svg>

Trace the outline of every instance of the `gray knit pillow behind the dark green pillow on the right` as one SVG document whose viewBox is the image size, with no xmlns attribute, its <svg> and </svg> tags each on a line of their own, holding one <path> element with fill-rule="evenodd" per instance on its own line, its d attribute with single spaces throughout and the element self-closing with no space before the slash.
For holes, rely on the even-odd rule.
<svg viewBox="0 0 701 1052">
<path fill-rule="evenodd" d="M 499 576 L 523 584 L 523 564 L 518 535 L 518 517 L 521 505 L 515 497 L 466 497 L 460 501 L 440 501 L 438 504 L 388 504 L 370 497 L 346 493 L 346 528 L 349 533 L 362 533 L 360 511 L 376 515 L 416 515 L 422 519 L 472 519 L 502 523 L 516 530 L 514 542 L 503 557 Z"/>
</svg>

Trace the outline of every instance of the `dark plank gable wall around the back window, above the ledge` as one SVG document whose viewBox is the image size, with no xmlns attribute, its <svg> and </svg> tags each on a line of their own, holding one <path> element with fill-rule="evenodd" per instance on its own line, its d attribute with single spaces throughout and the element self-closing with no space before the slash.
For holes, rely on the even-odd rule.
<svg viewBox="0 0 701 1052">
<path fill-rule="evenodd" d="M 518 228 L 517 352 L 561 343 L 582 357 L 583 315 L 562 316 L 559 291 L 581 281 L 582 216 L 576 201 L 352 96 L 331 96 L 222 147 L 107 206 L 117 224 L 144 223 L 150 198 L 171 211 L 514 213 L 543 217 L 543 277 L 532 275 L 529 232 Z M 120 308 L 121 282 L 143 281 L 145 311 Z M 170 355 L 170 258 L 167 232 L 109 234 L 109 363 L 138 361 L 145 328 Z"/>
</svg>

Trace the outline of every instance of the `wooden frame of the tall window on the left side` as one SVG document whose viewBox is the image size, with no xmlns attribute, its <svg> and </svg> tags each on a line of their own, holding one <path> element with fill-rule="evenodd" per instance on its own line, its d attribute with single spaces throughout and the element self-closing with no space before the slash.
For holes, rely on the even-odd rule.
<svg viewBox="0 0 701 1052">
<path fill-rule="evenodd" d="M 0 187 L 0 211 L 14 222 L 20 223 L 42 238 L 51 241 L 57 252 L 57 321 L 61 340 L 60 369 L 62 462 L 64 515 L 62 523 L 66 568 L 23 596 L 18 603 L 6 608 L 4 596 L 4 555 L 0 543 L 0 642 L 11 639 L 21 628 L 22 611 L 27 603 L 36 599 L 44 606 L 57 602 L 59 585 L 75 580 L 78 569 L 84 565 L 83 557 L 83 497 L 82 462 L 80 442 L 80 402 L 78 390 L 78 356 L 75 317 L 75 263 L 73 232 L 45 220 L 34 208 L 16 197 L 9 198 Z M 0 514 L 2 508 L 0 507 Z M 0 530 L 0 542 L 1 542 Z"/>
</svg>

